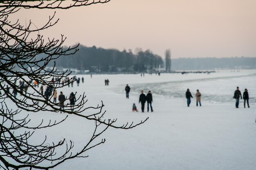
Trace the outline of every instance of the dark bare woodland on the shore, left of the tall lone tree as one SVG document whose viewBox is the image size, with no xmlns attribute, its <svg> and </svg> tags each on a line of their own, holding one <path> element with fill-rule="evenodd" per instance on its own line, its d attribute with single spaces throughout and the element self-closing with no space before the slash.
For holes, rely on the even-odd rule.
<svg viewBox="0 0 256 170">
<path fill-rule="evenodd" d="M 159 65 L 164 67 L 162 57 L 150 50 L 136 49 L 135 53 L 132 53 L 131 50 L 119 51 L 96 46 L 79 46 L 79 51 L 74 55 L 62 56 L 55 62 L 57 67 L 77 68 L 90 72 L 143 72 L 158 68 Z"/>
</svg>

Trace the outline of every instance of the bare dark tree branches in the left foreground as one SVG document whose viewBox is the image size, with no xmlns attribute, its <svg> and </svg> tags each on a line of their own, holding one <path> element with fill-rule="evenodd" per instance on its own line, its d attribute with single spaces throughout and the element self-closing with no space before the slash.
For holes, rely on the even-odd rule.
<svg viewBox="0 0 256 170">
<path fill-rule="evenodd" d="M 48 170 L 54 168 L 68 159 L 75 157 L 87 157 L 84 153 L 99 144 L 105 142 L 101 139 L 96 144 L 92 144 L 97 137 L 105 132 L 109 127 L 129 129 L 144 123 L 141 121 L 137 124 L 127 123 L 123 126 L 117 126 L 117 119 L 103 119 L 106 111 L 103 111 L 103 102 L 97 106 L 85 106 L 85 93 L 80 95 L 74 110 L 71 110 L 70 104 L 54 103 L 51 101 L 52 95 L 44 95 L 38 84 L 47 86 L 48 93 L 56 89 L 68 86 L 70 82 L 59 82 L 65 80 L 70 73 L 57 73 L 54 67 L 47 69 L 49 62 L 65 55 L 72 55 L 78 49 L 78 46 L 63 48 L 65 38 L 61 39 L 43 38 L 40 31 L 49 29 L 54 26 L 58 19 L 54 15 L 40 28 L 32 29 L 32 22 L 27 26 L 20 24 L 19 21 L 12 22 L 9 20 L 10 15 L 16 13 L 19 9 L 69 9 L 72 7 L 87 6 L 97 3 L 106 3 L 109 0 L 71 0 L 71 1 L 5 1 L 0 0 L 0 169 L 4 170 L 23 170 L 23 169 L 42 169 Z M 36 33 L 36 38 L 31 39 L 31 35 Z M 35 82 L 35 83 L 34 83 Z M 29 89 L 29 90 L 28 90 Z M 16 95 L 18 94 L 19 97 Z M 65 98 L 65 103 L 69 99 Z M 18 109 L 13 109 L 12 105 Z M 88 109 L 92 109 L 87 113 Z M 63 121 L 45 122 L 42 120 L 37 126 L 31 126 L 28 115 L 24 116 L 24 111 L 36 113 L 38 111 L 47 111 L 52 113 L 63 112 L 78 117 L 83 117 L 95 122 L 95 128 L 90 140 L 84 144 L 79 151 L 72 152 L 74 143 L 63 139 L 57 143 L 49 144 L 46 137 L 42 137 L 39 144 L 31 143 L 31 137 L 34 130 L 42 128 L 51 128 Z M 23 113 L 23 114 L 22 114 Z M 102 127 L 103 126 L 103 127 Z M 101 128 L 99 128 L 101 127 Z M 61 149 L 63 152 L 57 153 Z"/>
</svg>

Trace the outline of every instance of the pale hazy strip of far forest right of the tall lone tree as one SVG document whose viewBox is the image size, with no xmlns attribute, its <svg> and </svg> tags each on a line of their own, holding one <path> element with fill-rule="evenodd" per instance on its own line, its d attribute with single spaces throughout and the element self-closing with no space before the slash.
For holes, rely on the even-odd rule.
<svg viewBox="0 0 256 170">
<path fill-rule="evenodd" d="M 254 69 L 256 57 L 172 59 L 172 70 Z"/>
</svg>

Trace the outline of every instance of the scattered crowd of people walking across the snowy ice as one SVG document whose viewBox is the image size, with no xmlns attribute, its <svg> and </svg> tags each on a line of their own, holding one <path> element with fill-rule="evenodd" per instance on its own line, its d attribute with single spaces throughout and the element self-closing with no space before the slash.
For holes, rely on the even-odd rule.
<svg viewBox="0 0 256 170">
<path fill-rule="evenodd" d="M 144 74 L 141 74 L 141 77 L 144 76 Z M 91 78 L 92 78 L 92 75 L 91 75 Z M 53 78 L 52 79 L 52 84 L 56 84 L 58 83 L 58 85 L 67 85 L 68 87 L 73 87 L 73 83 L 76 82 L 77 83 L 77 86 L 79 86 L 80 84 L 80 80 L 82 81 L 82 83 L 84 83 L 84 78 L 81 77 L 76 77 L 76 76 L 73 76 L 72 78 L 69 78 L 69 77 L 65 77 L 65 78 L 59 78 L 59 77 L 55 77 L 55 79 Z M 16 82 L 15 82 L 16 83 Z M 39 87 L 39 82 L 37 80 L 29 80 L 28 81 L 28 84 L 33 84 L 35 87 Z M 19 90 L 20 91 L 24 91 L 25 93 L 27 93 L 27 90 L 28 90 L 28 87 L 29 85 L 26 84 L 24 81 L 19 81 Z M 53 103 L 57 103 L 57 90 L 54 89 L 53 85 L 52 84 L 48 84 L 46 86 L 46 89 L 44 91 L 43 89 L 43 84 L 41 84 L 40 88 L 39 88 L 39 93 L 41 95 L 43 95 L 45 97 L 45 99 L 47 99 L 46 101 L 48 102 L 49 101 L 49 98 L 53 98 Z M 108 86 L 109 85 L 109 80 L 108 79 L 105 79 L 105 86 Z M 6 87 L 6 91 L 7 93 L 10 93 L 10 88 L 9 86 L 7 85 Z M 126 84 L 125 86 L 125 92 L 126 92 L 126 99 L 129 99 L 129 93 L 130 93 L 130 86 L 128 84 Z M 14 98 L 16 98 L 17 96 L 17 91 L 15 89 L 13 89 L 12 93 Z M 1 95 L 1 91 L 0 91 L 0 95 Z M 20 94 L 21 95 L 21 94 Z M 193 98 L 189 88 L 186 90 L 186 104 L 187 106 L 189 107 L 190 104 L 191 104 L 191 98 Z M 196 90 L 196 93 L 195 93 L 195 98 L 196 98 L 196 106 L 202 106 L 201 104 L 201 93 L 199 90 Z M 246 106 L 246 103 L 247 103 L 247 107 L 249 108 L 249 94 L 248 94 L 248 90 L 245 88 L 245 91 L 243 93 L 243 96 L 239 90 L 239 87 L 237 87 L 236 91 L 234 92 L 234 99 L 236 99 L 236 108 L 239 108 L 239 100 L 240 99 L 244 99 L 244 107 Z M 72 92 L 70 93 L 69 97 L 69 105 L 70 105 L 70 110 L 73 112 L 74 111 L 74 106 L 75 106 L 75 102 L 76 102 L 76 97 L 75 97 L 75 94 Z M 63 109 L 64 107 L 64 104 L 65 104 L 65 101 L 67 99 L 65 98 L 65 95 L 63 95 L 63 92 L 60 92 L 60 95 L 58 96 L 58 104 L 60 106 L 60 109 Z M 141 112 L 144 112 L 144 108 L 145 108 L 145 103 L 147 102 L 147 111 L 149 111 L 149 108 L 151 110 L 151 112 L 153 112 L 153 107 L 152 107 L 152 103 L 153 103 L 153 97 L 152 97 L 152 94 L 151 94 L 151 91 L 148 91 L 148 94 L 145 95 L 144 94 L 144 91 L 142 90 L 141 91 L 141 94 L 139 95 L 139 104 L 141 104 Z M 138 112 L 138 109 L 136 107 L 136 104 L 133 103 L 132 104 L 132 111 L 136 111 Z"/>
</svg>

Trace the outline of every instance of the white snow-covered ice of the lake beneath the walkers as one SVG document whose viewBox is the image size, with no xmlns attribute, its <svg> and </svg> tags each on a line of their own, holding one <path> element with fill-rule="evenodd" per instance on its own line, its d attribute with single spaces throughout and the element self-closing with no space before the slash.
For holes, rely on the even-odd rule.
<svg viewBox="0 0 256 170">
<path fill-rule="evenodd" d="M 78 75 L 81 77 L 81 75 Z M 67 161 L 56 170 L 255 170 L 256 169 L 256 70 L 219 71 L 207 74 L 83 75 L 85 83 L 63 88 L 87 95 L 87 106 L 104 103 L 105 118 L 117 118 L 117 124 L 140 122 L 130 130 L 109 128 L 98 140 L 106 143 L 92 148 L 88 158 Z M 104 79 L 110 80 L 105 86 Z M 130 99 L 124 88 L 129 84 Z M 248 89 L 250 108 L 235 108 L 232 98 L 236 86 L 243 94 Z M 202 93 L 202 107 L 186 106 L 185 92 Z M 141 111 L 139 92 L 153 94 L 151 113 L 133 113 L 135 103 Z M 59 91 L 58 91 L 59 95 Z M 7 103 L 11 105 L 10 102 Z M 13 106 L 14 107 L 14 106 Z M 88 110 L 90 112 L 90 110 Z M 23 112 L 24 115 L 27 114 Z M 31 113 L 34 123 L 41 119 L 59 120 L 60 113 Z M 35 143 L 47 135 L 49 141 L 63 138 L 83 146 L 91 135 L 93 122 L 69 115 L 67 120 L 49 130 L 36 131 Z M 43 136 L 43 137 L 42 137 Z M 75 149 L 76 149 L 75 147 Z"/>
</svg>

